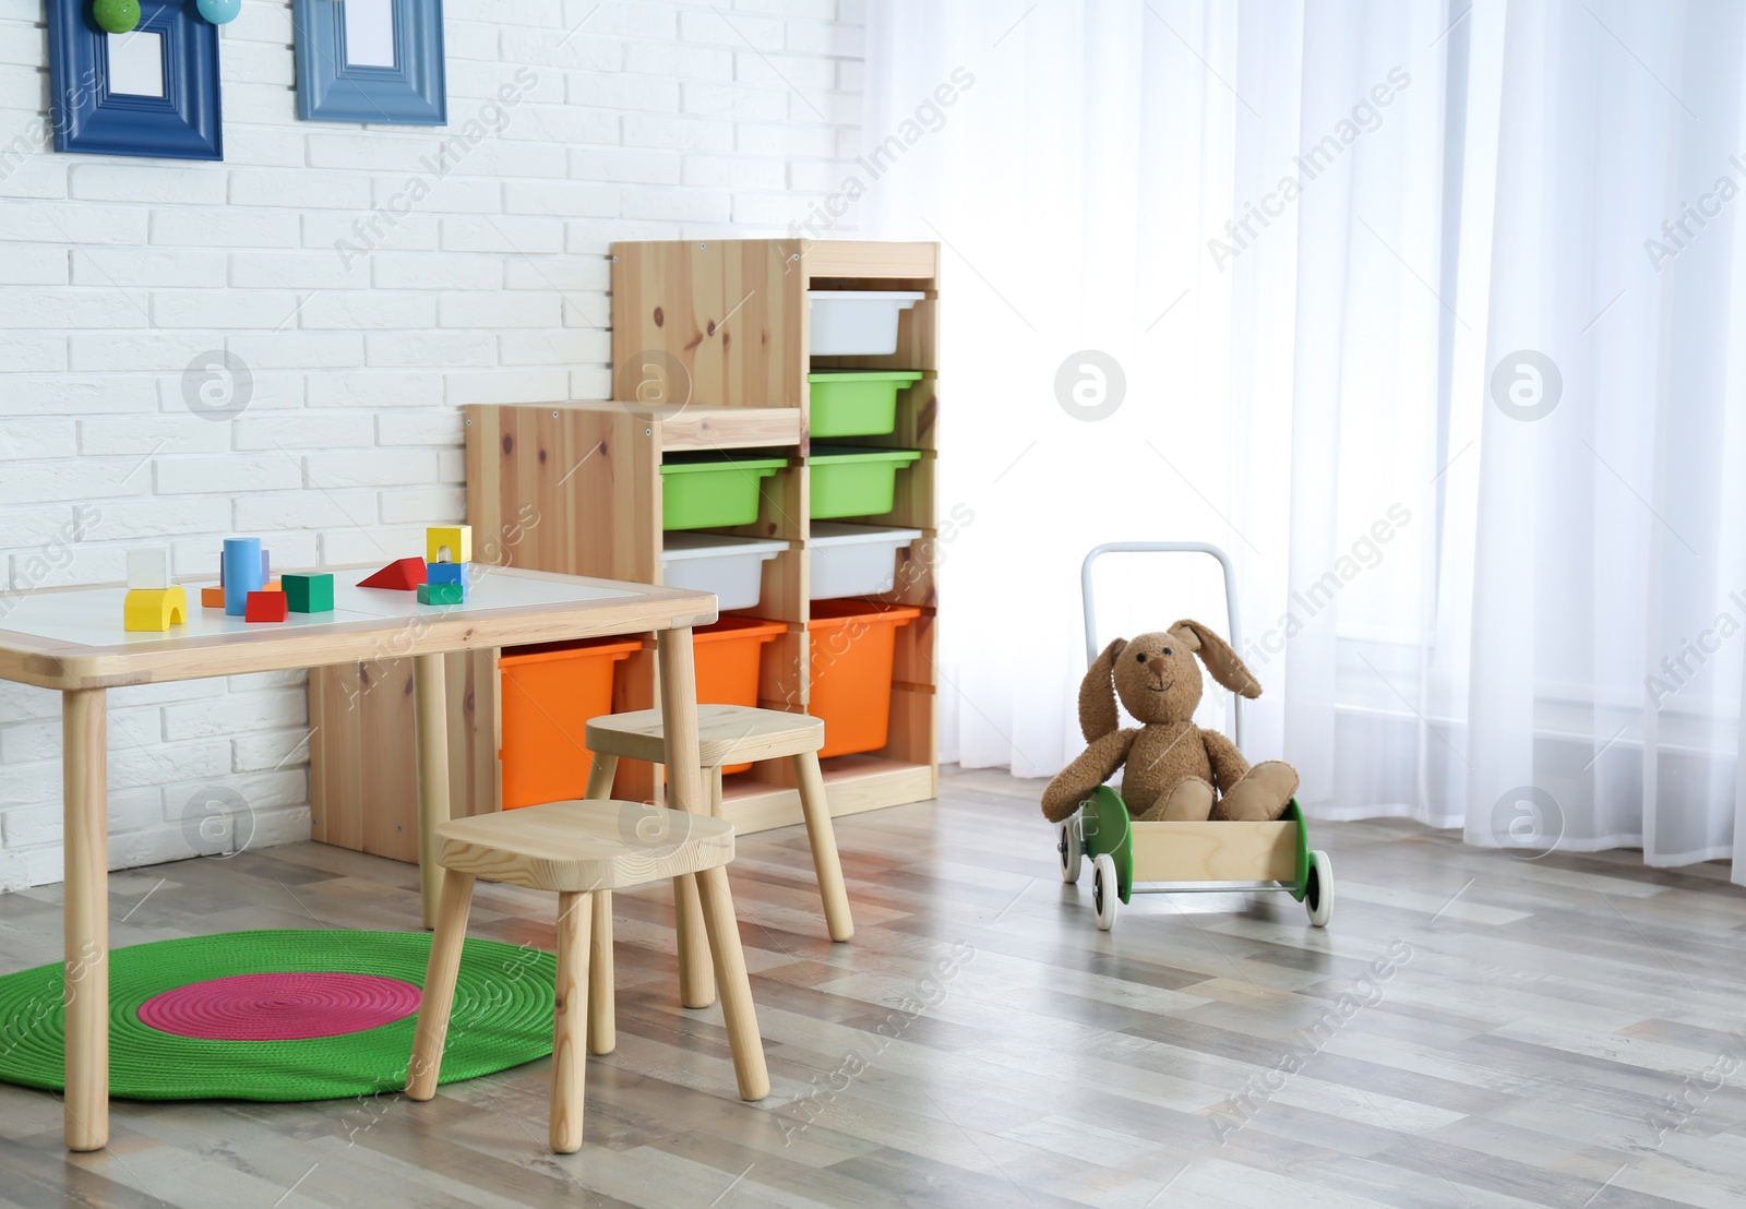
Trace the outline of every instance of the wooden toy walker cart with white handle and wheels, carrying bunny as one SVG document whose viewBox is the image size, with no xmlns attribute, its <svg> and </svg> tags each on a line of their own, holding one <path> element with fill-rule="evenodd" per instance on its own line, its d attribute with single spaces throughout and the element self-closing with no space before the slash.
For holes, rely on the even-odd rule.
<svg viewBox="0 0 1746 1209">
<path fill-rule="evenodd" d="M 1236 577 L 1224 550 L 1205 542 L 1110 542 L 1091 550 L 1079 570 L 1088 662 L 1098 655 L 1091 564 L 1102 554 L 1210 554 L 1219 559 L 1231 648 L 1243 650 L 1236 627 Z M 1241 697 L 1236 697 L 1233 730 L 1241 748 Z M 1103 931 L 1116 926 L 1116 905 L 1131 895 L 1283 891 L 1310 910 L 1316 928 L 1325 928 L 1334 915 L 1334 868 L 1327 853 L 1310 849 L 1310 826 L 1296 798 L 1271 823 L 1145 823 L 1130 819 L 1121 795 L 1103 784 L 1056 828 L 1062 881 L 1077 882 L 1081 860 L 1091 858 L 1091 905 Z"/>
</svg>

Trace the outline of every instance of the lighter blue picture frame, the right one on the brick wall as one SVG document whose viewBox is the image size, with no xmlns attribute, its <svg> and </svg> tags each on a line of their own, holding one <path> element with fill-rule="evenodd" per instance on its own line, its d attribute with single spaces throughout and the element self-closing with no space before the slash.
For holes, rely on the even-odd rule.
<svg viewBox="0 0 1746 1209">
<path fill-rule="evenodd" d="M 449 121 L 442 0 L 393 0 L 395 66 L 346 56 L 344 0 L 293 0 L 297 117 L 306 122 L 442 126 Z"/>
</svg>

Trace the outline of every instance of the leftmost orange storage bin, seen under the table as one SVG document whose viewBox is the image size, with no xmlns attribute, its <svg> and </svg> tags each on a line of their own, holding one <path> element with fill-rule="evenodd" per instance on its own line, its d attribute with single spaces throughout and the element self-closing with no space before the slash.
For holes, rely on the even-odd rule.
<svg viewBox="0 0 1746 1209">
<path fill-rule="evenodd" d="M 585 727 L 613 713 L 613 669 L 639 650 L 636 638 L 505 650 L 498 659 L 505 811 L 583 795 L 594 760 Z"/>
</svg>

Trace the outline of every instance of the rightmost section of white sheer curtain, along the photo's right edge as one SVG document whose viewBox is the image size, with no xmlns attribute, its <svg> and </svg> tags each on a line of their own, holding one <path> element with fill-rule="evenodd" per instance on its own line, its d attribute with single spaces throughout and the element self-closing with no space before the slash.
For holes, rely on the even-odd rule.
<svg viewBox="0 0 1746 1209">
<path fill-rule="evenodd" d="M 1477 38 L 1502 117 L 1486 363 L 1538 349 L 1563 397 L 1536 421 L 1482 411 L 1467 832 L 1535 784 L 1566 847 L 1730 858 L 1746 12 L 1512 5 Z"/>
</svg>

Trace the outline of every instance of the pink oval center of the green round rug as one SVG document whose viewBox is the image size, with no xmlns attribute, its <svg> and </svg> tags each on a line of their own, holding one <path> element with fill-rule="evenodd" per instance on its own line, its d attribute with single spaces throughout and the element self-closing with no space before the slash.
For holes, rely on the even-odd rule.
<svg viewBox="0 0 1746 1209">
<path fill-rule="evenodd" d="M 302 1041 L 363 1033 L 419 1010 L 419 989 L 367 973 L 239 973 L 140 1005 L 159 1033 L 208 1041 Z"/>
</svg>

